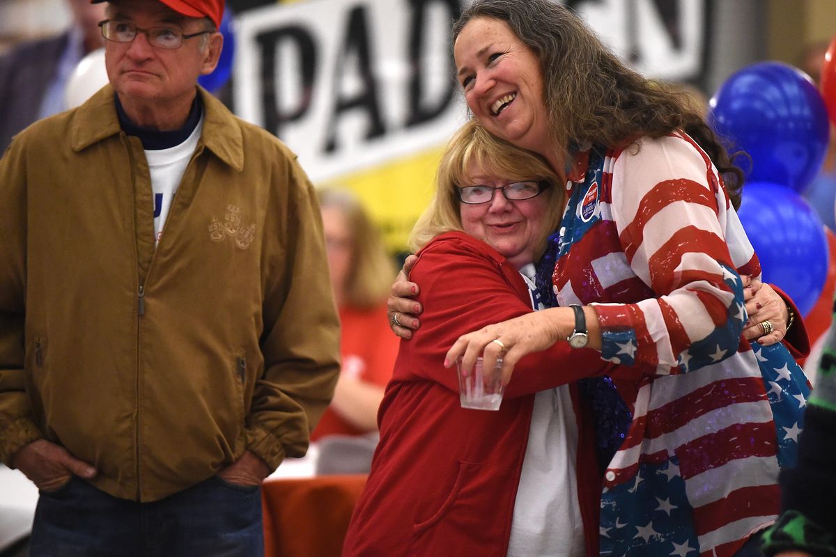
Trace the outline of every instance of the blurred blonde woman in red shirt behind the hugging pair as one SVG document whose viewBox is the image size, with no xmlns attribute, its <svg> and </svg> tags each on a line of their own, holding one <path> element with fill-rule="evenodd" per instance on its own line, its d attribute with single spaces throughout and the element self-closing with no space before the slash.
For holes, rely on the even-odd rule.
<svg viewBox="0 0 836 557">
<path fill-rule="evenodd" d="M 377 409 L 398 353 L 386 298 L 395 261 L 380 231 L 349 190 L 318 190 L 334 301 L 339 309 L 342 369 L 334 398 L 311 440 L 377 432 Z"/>
</svg>

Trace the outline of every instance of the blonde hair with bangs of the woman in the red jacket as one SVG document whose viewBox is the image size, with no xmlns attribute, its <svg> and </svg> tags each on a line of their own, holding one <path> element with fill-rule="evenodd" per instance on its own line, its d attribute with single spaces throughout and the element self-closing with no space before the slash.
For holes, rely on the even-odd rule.
<svg viewBox="0 0 836 557">
<path fill-rule="evenodd" d="M 539 257 L 546 247 L 548 235 L 558 229 L 563 209 L 562 177 L 540 157 L 520 149 L 487 132 L 476 119 L 461 126 L 447 144 L 436 173 L 436 191 L 430 206 L 421 214 L 409 237 L 410 250 L 418 251 L 437 235 L 451 230 L 461 231 L 461 201 L 456 188 L 468 185 L 467 167 L 478 167 L 508 180 L 546 180 L 549 187 L 541 195 L 546 198 L 547 226 L 538 239 L 535 253 Z"/>
</svg>

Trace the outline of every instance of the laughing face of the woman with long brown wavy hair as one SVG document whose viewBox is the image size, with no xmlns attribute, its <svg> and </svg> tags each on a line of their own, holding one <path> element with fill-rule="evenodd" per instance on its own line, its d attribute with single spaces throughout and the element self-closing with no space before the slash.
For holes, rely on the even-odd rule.
<svg viewBox="0 0 836 557">
<path fill-rule="evenodd" d="M 467 106 L 492 134 L 548 156 L 548 112 L 537 56 L 507 23 L 477 17 L 453 48 Z"/>
</svg>

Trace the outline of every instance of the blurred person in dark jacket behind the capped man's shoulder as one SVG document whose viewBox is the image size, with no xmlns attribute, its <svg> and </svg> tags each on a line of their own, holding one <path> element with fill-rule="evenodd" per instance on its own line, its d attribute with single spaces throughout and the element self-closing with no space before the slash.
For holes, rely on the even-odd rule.
<svg viewBox="0 0 836 557">
<path fill-rule="evenodd" d="M 23 43 L 0 58 L 0 154 L 14 134 L 64 110 L 64 87 L 81 58 L 104 46 L 104 4 L 66 0 L 70 27 L 57 37 Z"/>
</svg>

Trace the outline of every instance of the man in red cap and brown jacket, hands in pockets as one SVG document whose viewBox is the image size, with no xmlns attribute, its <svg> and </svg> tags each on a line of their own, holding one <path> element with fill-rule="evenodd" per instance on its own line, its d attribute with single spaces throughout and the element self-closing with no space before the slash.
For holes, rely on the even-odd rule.
<svg viewBox="0 0 836 557">
<path fill-rule="evenodd" d="M 98 1 L 98 0 L 95 0 Z M 110 84 L 0 159 L 0 460 L 30 554 L 263 554 L 339 375 L 314 186 L 197 86 L 223 0 L 113 0 Z"/>
</svg>

